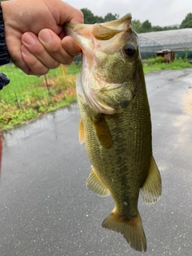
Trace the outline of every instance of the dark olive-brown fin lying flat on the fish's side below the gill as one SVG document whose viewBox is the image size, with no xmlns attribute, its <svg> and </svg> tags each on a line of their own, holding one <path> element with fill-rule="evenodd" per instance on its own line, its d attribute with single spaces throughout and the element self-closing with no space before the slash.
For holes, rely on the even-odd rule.
<svg viewBox="0 0 192 256">
<path fill-rule="evenodd" d="M 101 144 L 101 146 L 104 148 L 110 148 L 113 146 L 114 142 L 110 134 L 110 128 L 102 114 L 98 114 L 96 118 L 94 117 L 92 119 L 92 121 L 98 142 Z"/>
</svg>

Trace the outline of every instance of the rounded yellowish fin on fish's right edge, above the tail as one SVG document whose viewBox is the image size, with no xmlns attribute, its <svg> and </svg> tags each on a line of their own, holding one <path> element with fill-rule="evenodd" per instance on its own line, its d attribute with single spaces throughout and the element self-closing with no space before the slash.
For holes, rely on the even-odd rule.
<svg viewBox="0 0 192 256">
<path fill-rule="evenodd" d="M 142 199 L 146 204 L 156 202 L 162 194 L 162 179 L 153 156 L 150 161 L 148 177 L 141 188 L 141 194 Z"/>
</svg>

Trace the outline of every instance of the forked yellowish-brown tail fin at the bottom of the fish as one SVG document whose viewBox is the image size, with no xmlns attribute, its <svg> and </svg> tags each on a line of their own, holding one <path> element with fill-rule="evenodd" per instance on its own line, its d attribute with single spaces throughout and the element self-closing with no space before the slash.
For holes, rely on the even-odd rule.
<svg viewBox="0 0 192 256">
<path fill-rule="evenodd" d="M 142 218 L 139 212 L 134 218 L 126 218 L 119 216 L 113 210 L 102 222 L 102 227 L 123 234 L 134 250 L 146 251 L 146 235 L 142 228 Z"/>
</svg>

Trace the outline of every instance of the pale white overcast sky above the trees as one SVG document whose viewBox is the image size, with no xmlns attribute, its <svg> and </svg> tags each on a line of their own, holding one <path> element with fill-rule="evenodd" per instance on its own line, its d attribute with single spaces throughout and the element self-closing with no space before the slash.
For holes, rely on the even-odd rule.
<svg viewBox="0 0 192 256">
<path fill-rule="evenodd" d="M 152 26 L 181 24 L 186 14 L 192 13 L 192 0 L 69 0 L 67 3 L 102 17 L 107 13 L 122 17 L 131 12 L 133 19 L 140 22 L 148 19 Z"/>
</svg>

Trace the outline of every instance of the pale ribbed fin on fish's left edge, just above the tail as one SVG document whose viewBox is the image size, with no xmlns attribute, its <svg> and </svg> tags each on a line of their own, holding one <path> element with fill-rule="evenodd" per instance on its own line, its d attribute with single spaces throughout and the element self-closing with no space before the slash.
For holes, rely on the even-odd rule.
<svg viewBox="0 0 192 256">
<path fill-rule="evenodd" d="M 107 197 L 110 195 L 110 190 L 102 183 L 98 175 L 96 174 L 94 167 L 91 166 L 90 176 L 86 180 L 86 186 L 89 190 L 101 197 Z"/>
</svg>

